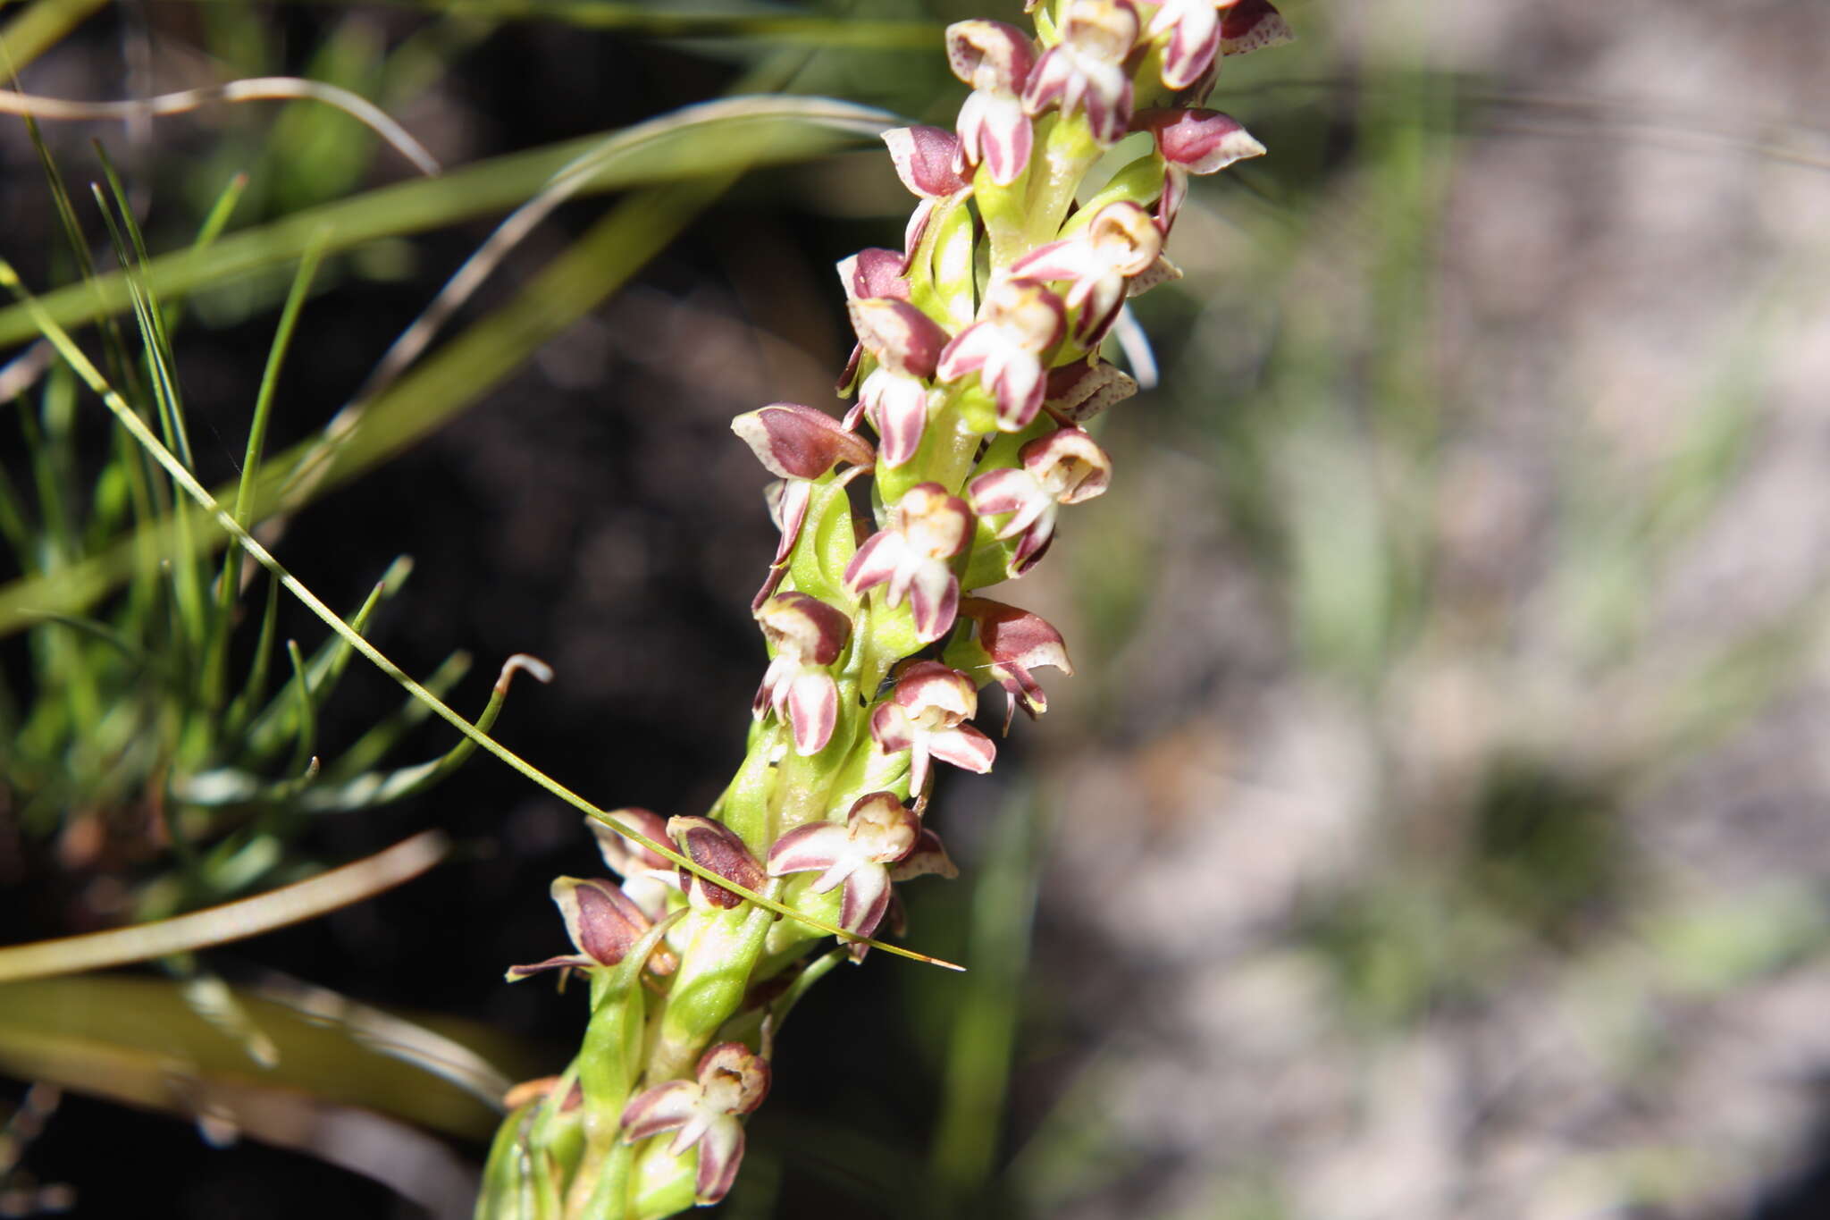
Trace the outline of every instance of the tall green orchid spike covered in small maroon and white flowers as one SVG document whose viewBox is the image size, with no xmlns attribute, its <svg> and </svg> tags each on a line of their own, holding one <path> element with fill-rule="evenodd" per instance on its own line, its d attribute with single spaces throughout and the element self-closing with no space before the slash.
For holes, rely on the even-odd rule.
<svg viewBox="0 0 1830 1220">
<path fill-rule="evenodd" d="M 554 882 L 576 953 L 509 977 L 584 975 L 591 1021 L 564 1076 L 514 1094 L 478 1216 L 646 1220 L 723 1198 L 787 1010 L 862 938 L 900 931 L 897 882 L 955 874 L 922 814 L 935 763 L 996 759 L 968 722 L 981 684 L 1005 690 L 1008 732 L 1017 708 L 1047 708 L 1036 669 L 1072 671 L 1054 627 L 975 591 L 1034 567 L 1061 507 L 1105 490 L 1082 424 L 1136 382 L 1102 346 L 1129 296 L 1179 274 L 1162 247 L 1188 176 L 1265 152 L 1202 102 L 1226 55 L 1288 27 L 1265 0 L 1028 7 L 1036 38 L 948 27 L 972 86 L 953 132 L 884 134 L 919 203 L 902 251 L 838 265 L 851 410 L 774 402 L 732 423 L 778 479 L 748 754 L 703 818 L 611 816 L 703 872 L 593 823 L 620 883 Z M 1083 192 L 1129 134 L 1149 150 Z M 706 874 L 853 938 L 814 958 L 825 933 Z"/>
</svg>

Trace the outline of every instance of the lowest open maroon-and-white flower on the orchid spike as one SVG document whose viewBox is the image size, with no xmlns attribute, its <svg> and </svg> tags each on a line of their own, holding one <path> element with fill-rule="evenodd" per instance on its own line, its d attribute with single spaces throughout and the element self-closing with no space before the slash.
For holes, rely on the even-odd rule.
<svg viewBox="0 0 1830 1220">
<path fill-rule="evenodd" d="M 699 1147 L 694 1202 L 725 1198 L 743 1161 L 743 1123 L 769 1096 L 769 1061 L 743 1043 L 719 1043 L 705 1052 L 690 1081 L 668 1081 L 637 1094 L 622 1108 L 622 1141 L 635 1143 L 675 1130 L 668 1156 Z"/>
</svg>

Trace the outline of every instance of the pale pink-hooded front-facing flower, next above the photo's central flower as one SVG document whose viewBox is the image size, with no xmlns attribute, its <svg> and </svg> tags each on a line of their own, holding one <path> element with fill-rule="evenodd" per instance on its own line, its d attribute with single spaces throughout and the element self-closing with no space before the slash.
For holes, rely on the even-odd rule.
<svg viewBox="0 0 1830 1220">
<path fill-rule="evenodd" d="M 1067 305 L 1038 280 L 997 280 L 985 293 L 979 320 L 941 353 L 935 377 L 979 375 L 997 399 L 997 426 L 1021 432 L 1041 410 L 1047 377 L 1041 357 L 1061 340 Z"/>
</svg>

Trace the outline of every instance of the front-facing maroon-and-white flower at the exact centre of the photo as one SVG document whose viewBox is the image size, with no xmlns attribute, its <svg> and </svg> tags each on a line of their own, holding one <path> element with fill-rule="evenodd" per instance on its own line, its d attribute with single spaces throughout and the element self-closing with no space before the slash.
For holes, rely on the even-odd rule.
<svg viewBox="0 0 1830 1220">
<path fill-rule="evenodd" d="M 952 558 L 972 541 L 974 525 L 964 499 L 948 496 L 939 483 L 917 483 L 889 510 L 889 525 L 866 538 L 851 556 L 845 589 L 864 596 L 866 589 L 888 585 L 884 604 L 900 605 L 906 596 L 915 635 L 922 642 L 939 640 L 959 607 Z"/>
</svg>

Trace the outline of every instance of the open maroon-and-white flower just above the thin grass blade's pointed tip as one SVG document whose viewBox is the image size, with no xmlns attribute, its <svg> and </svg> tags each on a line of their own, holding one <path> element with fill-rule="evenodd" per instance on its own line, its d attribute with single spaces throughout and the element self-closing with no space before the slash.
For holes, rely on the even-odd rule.
<svg viewBox="0 0 1830 1220">
<path fill-rule="evenodd" d="M 769 849 L 769 876 L 820 872 L 813 893 L 844 885 L 838 926 L 869 936 L 889 907 L 889 865 L 915 849 L 920 819 L 895 792 L 860 796 L 844 823 L 794 827 Z"/>
</svg>

